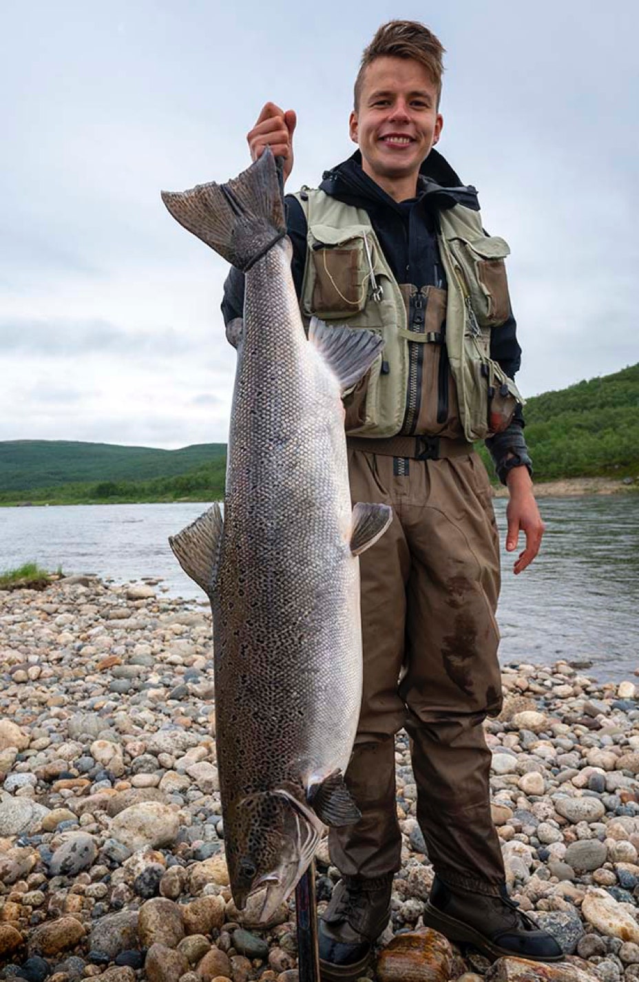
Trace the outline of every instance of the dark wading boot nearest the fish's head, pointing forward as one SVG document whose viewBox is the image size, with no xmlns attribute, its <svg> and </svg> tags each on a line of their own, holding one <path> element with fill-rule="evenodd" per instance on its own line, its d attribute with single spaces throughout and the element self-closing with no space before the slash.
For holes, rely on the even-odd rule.
<svg viewBox="0 0 639 982">
<path fill-rule="evenodd" d="M 364 971 L 391 916 L 393 876 L 345 876 L 318 925 L 322 982 L 351 982 Z"/>
</svg>

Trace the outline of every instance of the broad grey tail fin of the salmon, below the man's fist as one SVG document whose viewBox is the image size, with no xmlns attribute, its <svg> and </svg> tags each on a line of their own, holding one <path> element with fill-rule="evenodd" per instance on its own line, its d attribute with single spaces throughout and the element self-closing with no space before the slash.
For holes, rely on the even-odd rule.
<svg viewBox="0 0 639 982">
<path fill-rule="evenodd" d="M 273 152 L 227 184 L 162 191 L 167 208 L 188 232 L 244 272 L 287 234 Z"/>
</svg>

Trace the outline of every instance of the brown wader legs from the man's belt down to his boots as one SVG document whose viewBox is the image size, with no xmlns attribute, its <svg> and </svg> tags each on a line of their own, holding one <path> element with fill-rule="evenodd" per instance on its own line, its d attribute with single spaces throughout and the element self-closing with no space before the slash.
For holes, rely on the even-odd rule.
<svg viewBox="0 0 639 982">
<path fill-rule="evenodd" d="M 421 446 L 441 459 L 414 459 Z M 394 736 L 404 727 L 438 876 L 497 895 L 505 875 L 482 728 L 502 701 L 488 475 L 469 444 L 419 438 L 351 438 L 348 466 L 353 502 L 389 504 L 394 519 L 359 561 L 364 685 L 346 783 L 362 818 L 331 830 L 332 860 L 366 880 L 399 870 Z"/>
</svg>

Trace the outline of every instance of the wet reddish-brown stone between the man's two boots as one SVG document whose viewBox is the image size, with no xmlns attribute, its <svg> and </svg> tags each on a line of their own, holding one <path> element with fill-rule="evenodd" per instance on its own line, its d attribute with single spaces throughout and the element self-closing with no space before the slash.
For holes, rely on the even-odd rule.
<svg viewBox="0 0 639 982">
<path fill-rule="evenodd" d="M 447 939 L 424 928 L 397 935 L 377 959 L 379 982 L 448 982 L 453 949 Z"/>
</svg>

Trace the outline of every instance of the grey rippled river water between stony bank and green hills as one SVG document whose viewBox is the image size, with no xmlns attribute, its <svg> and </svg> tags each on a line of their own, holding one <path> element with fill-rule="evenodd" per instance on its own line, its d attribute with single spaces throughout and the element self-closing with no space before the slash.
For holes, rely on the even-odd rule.
<svg viewBox="0 0 639 982">
<path fill-rule="evenodd" d="M 547 498 L 540 507 L 547 531 L 535 563 L 514 576 L 513 556 L 502 557 L 503 664 L 587 661 L 602 681 L 632 678 L 639 668 L 639 496 Z M 170 595 L 202 600 L 167 538 L 205 508 L 0 508 L 0 571 L 35 560 L 116 581 L 158 577 Z M 504 540 L 506 502 L 496 501 L 495 510 Z"/>
</svg>

